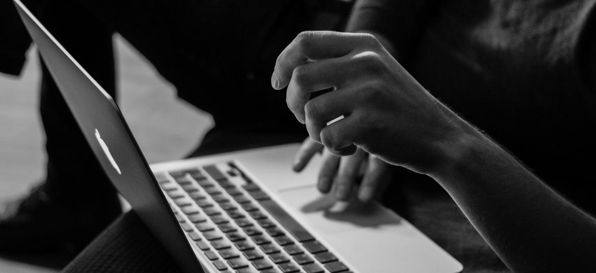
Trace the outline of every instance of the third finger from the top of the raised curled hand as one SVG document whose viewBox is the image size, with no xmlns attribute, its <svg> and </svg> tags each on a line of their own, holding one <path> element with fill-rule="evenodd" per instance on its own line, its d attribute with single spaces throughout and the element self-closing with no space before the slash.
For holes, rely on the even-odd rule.
<svg viewBox="0 0 596 273">
<path fill-rule="evenodd" d="M 349 116 L 358 103 L 358 88 L 348 86 L 327 92 L 308 101 L 304 107 L 306 130 L 316 142 L 321 141 L 321 130 L 331 120 L 340 116 Z"/>
</svg>

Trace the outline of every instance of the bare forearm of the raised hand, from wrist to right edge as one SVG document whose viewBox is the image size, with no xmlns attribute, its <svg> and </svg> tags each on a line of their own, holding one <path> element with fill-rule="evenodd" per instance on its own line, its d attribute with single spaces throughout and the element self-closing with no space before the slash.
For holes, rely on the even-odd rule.
<svg viewBox="0 0 596 273">
<path fill-rule="evenodd" d="M 596 221 L 469 126 L 431 174 L 516 272 L 596 266 Z M 455 143 L 455 144 L 453 144 Z"/>
</svg>

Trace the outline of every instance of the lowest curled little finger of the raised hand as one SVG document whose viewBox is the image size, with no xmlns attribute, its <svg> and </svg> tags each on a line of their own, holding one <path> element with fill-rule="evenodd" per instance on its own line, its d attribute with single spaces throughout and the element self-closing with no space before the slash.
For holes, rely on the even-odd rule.
<svg viewBox="0 0 596 273">
<path fill-rule="evenodd" d="M 321 130 L 321 143 L 337 156 L 349 156 L 356 152 L 356 142 L 361 139 L 362 117 L 358 111 L 350 113 Z"/>
</svg>

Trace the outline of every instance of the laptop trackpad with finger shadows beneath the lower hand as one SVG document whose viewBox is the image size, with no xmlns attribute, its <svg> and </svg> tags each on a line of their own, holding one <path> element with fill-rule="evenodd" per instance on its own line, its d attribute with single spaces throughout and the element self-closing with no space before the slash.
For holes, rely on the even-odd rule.
<svg viewBox="0 0 596 273">
<path fill-rule="evenodd" d="M 321 194 L 315 185 L 280 190 L 281 200 L 293 207 L 309 226 L 321 234 L 337 234 L 356 228 L 399 225 L 400 218 L 377 203 L 337 201 Z"/>
</svg>

